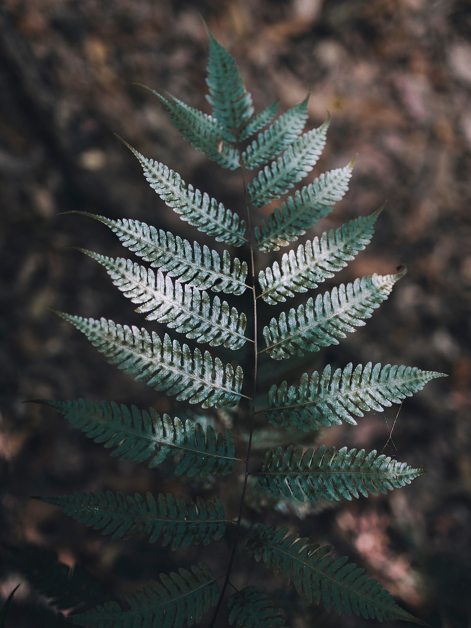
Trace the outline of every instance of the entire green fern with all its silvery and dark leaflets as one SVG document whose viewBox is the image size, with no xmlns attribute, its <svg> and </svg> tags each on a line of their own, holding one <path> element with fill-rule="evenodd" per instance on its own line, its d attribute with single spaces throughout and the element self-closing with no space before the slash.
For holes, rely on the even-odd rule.
<svg viewBox="0 0 471 628">
<path fill-rule="evenodd" d="M 70 619 L 90 628 L 178 628 L 200 622 L 203 614 L 215 607 L 210 620 L 213 628 L 224 621 L 219 617 L 230 585 L 236 590 L 226 600 L 230 624 L 237 628 L 286 627 L 283 611 L 272 604 L 261 588 L 237 590 L 232 585 L 240 582 L 241 574 L 247 571 L 246 567 L 240 569 L 237 580 L 231 580 L 241 560 L 239 544 L 246 538 L 248 555 L 256 562 L 263 560 L 275 575 L 281 572 L 286 584 L 293 583 L 308 602 L 379 621 L 405 619 L 422 624 L 401 609 L 361 568 L 348 563 L 346 557 L 336 558 L 330 546 L 310 543 L 296 533 L 288 533 L 288 528 L 256 526 L 251 521 L 254 511 L 262 510 L 272 521 L 278 519 L 280 512 L 311 517 L 331 502 L 386 494 L 410 484 L 422 470 L 378 455 L 376 450 L 343 447 L 337 451 L 322 444 L 315 449 L 311 447 L 312 432 L 320 425 L 328 427 L 342 421 L 354 426 L 355 417 L 401 403 L 441 374 L 404 365 L 373 366 L 368 362 L 354 368 L 350 363 L 333 374 L 330 365 L 322 373 L 305 373 L 297 384 L 272 384 L 276 371 L 273 362 L 266 359 L 270 368 L 264 376 L 271 386 L 268 404 L 265 409 L 256 408 L 258 400 L 263 399 L 263 391 L 254 386 L 255 381 L 261 380 L 257 380 L 259 354 L 282 360 L 338 344 L 347 333 L 365 325 L 405 270 L 384 276 L 373 274 L 308 296 L 296 307 L 271 318 L 263 329 L 266 346 L 261 349 L 257 336 L 262 300 L 276 306 L 288 298 L 311 293 L 318 284 L 332 278 L 369 244 L 382 208 L 311 237 L 297 249 L 286 252 L 280 261 L 272 261 L 271 266 L 263 261 L 259 264 L 258 252 L 265 254 L 288 246 L 332 212 L 333 204 L 347 192 L 355 160 L 295 190 L 281 207 L 261 220 L 259 227 L 251 227 L 251 233 L 246 234 L 247 226 L 256 222 L 256 208 L 280 198 L 313 170 L 325 145 L 329 121 L 303 133 L 308 98 L 276 119 L 278 102 L 253 115 L 251 95 L 234 59 L 210 33 L 208 36 L 210 114 L 166 92 L 151 91 L 165 107 L 171 124 L 205 156 L 229 170 L 261 167 L 246 189 L 241 173 L 247 223 L 215 198 L 187 185 L 176 171 L 144 157 L 126 142 L 163 203 L 188 225 L 224 244 L 212 250 L 139 220 L 77 213 L 109 227 L 128 251 L 148 264 L 79 249 L 106 268 L 116 288 L 138 305 L 136 311 L 151 322 L 185 334 L 193 345 L 207 343 L 212 352 L 193 345 L 190 349 L 166 332 L 162 339 L 153 330 L 106 318 L 95 320 L 57 312 L 84 333 L 111 364 L 165 393 L 168 399 L 160 402 L 163 409 L 173 408 L 172 398 L 198 404 L 199 408 L 190 411 L 188 404 L 179 404 L 178 414 L 185 417 L 180 419 L 154 408 L 139 410 L 134 405 L 129 408 L 82 398 L 39 403 L 57 410 L 85 436 L 110 449 L 112 456 L 146 463 L 151 469 L 165 462 L 167 475 L 173 470 L 173 474 L 181 476 L 186 489 L 200 487 L 203 495 L 215 488 L 216 477 L 229 475 L 237 462 L 244 464 L 232 476 L 230 487 L 219 488 L 218 484 L 219 497 L 211 499 L 206 499 L 206 495 L 203 499 L 158 491 L 154 492 L 157 497 L 150 492 L 145 497 L 138 493 L 126 497 L 110 490 L 39 499 L 58 506 L 85 526 L 111 534 L 112 539 L 137 534 L 150 543 L 161 539 L 171 549 L 190 549 L 190 544 L 206 545 L 225 535 L 230 556 L 224 564 L 224 558 L 220 559 L 216 577 L 205 563 L 190 570 L 181 567 L 178 573 L 161 574 L 160 582 L 151 581 L 128 596 L 126 609 L 102 593 L 98 597 L 90 594 L 85 610 Z M 259 133 L 265 126 L 268 128 Z M 257 252 L 252 239 L 257 242 Z M 229 245 L 241 247 L 240 259 L 232 256 L 226 248 Z M 210 296 L 207 291 L 225 293 L 228 301 Z M 253 327 L 248 325 L 248 332 L 247 320 L 255 323 Z M 243 381 L 239 362 L 244 362 L 244 369 L 254 377 Z M 256 421 L 256 415 L 260 421 Z M 221 425 L 230 429 L 217 433 Z M 297 428 L 307 436 L 303 438 L 298 432 L 297 441 L 291 443 L 293 432 L 277 428 Z M 308 440 L 309 447 L 304 447 Z M 244 449 L 241 458 L 235 456 L 236 443 Z M 264 458 L 261 468 L 249 473 L 251 451 L 264 452 Z M 160 476 L 156 477 L 158 482 Z M 185 479 L 189 479 L 186 484 Z M 239 510 L 227 520 L 223 501 L 229 492 L 231 506 L 239 501 Z M 247 519 L 246 511 L 242 518 L 244 507 L 249 508 Z M 224 549 L 219 549 L 212 554 L 213 562 L 224 557 Z M 60 574 L 69 578 L 71 584 L 73 577 L 62 568 L 58 573 L 57 566 L 49 577 L 48 568 L 36 565 L 30 569 L 30 579 L 40 591 L 55 601 L 61 597 L 63 609 L 84 604 L 83 595 L 69 595 L 67 587 L 61 590 L 58 585 Z M 45 577 L 38 579 L 41 569 Z"/>
</svg>

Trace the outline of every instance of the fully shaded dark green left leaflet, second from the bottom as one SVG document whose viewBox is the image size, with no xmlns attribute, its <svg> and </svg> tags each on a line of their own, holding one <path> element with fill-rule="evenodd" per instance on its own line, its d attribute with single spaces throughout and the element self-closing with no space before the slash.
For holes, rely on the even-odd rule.
<svg viewBox="0 0 471 628">
<path fill-rule="evenodd" d="M 146 497 L 134 494 L 123 495 L 119 491 L 106 494 L 75 492 L 61 497 L 38 497 L 46 504 L 59 507 L 65 514 L 85 524 L 87 528 L 112 534 L 112 539 L 149 537 L 155 543 L 163 536 L 162 544 L 171 543 L 171 549 L 186 548 L 202 543 L 208 545 L 225 533 L 224 506 L 219 499 L 204 501 L 168 493 L 159 494 L 157 499 L 147 492 Z"/>
</svg>

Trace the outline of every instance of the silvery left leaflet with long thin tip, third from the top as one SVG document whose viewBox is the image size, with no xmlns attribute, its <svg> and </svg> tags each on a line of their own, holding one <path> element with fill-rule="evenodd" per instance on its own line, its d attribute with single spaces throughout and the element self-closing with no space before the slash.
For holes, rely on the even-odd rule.
<svg viewBox="0 0 471 628">
<path fill-rule="evenodd" d="M 139 220 L 112 220 L 87 212 L 74 213 L 99 220 L 116 233 L 123 246 L 178 281 L 200 290 L 225 294 L 242 295 L 247 289 L 247 263 L 237 257 L 230 259 L 229 251 L 223 252 L 221 260 L 219 253 L 207 246 L 201 248 L 198 242 L 191 244 L 170 231 L 156 229 Z"/>
</svg>

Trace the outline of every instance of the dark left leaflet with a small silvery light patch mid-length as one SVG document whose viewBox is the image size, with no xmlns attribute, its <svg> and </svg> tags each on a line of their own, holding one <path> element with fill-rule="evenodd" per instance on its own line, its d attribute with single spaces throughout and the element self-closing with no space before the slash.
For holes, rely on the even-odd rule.
<svg viewBox="0 0 471 628">
<path fill-rule="evenodd" d="M 228 475 L 234 469 L 235 445 L 230 430 L 216 434 L 208 425 L 206 433 L 200 423 L 149 408 L 139 411 L 136 406 L 127 408 L 106 401 L 76 399 L 73 401 L 35 400 L 63 414 L 70 423 L 82 430 L 95 443 L 114 447 L 112 456 L 130 462 L 146 462 L 149 468 L 160 465 L 168 455 L 178 456 L 175 475 L 193 477 L 199 474 Z"/>
</svg>

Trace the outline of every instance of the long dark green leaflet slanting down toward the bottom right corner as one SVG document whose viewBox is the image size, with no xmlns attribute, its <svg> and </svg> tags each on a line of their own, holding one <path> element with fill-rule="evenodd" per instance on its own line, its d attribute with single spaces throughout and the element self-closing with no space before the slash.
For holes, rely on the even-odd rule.
<svg viewBox="0 0 471 628">
<path fill-rule="evenodd" d="M 320 547 L 298 534 L 288 534 L 288 528 L 259 525 L 247 542 L 247 553 L 254 560 L 263 560 L 275 575 L 283 573 L 286 584 L 293 582 L 296 591 L 315 604 L 323 603 L 340 615 L 342 610 L 365 619 L 405 619 L 426 625 L 401 609 L 382 585 L 369 578 L 347 556 L 336 558 L 330 546 Z"/>
</svg>

